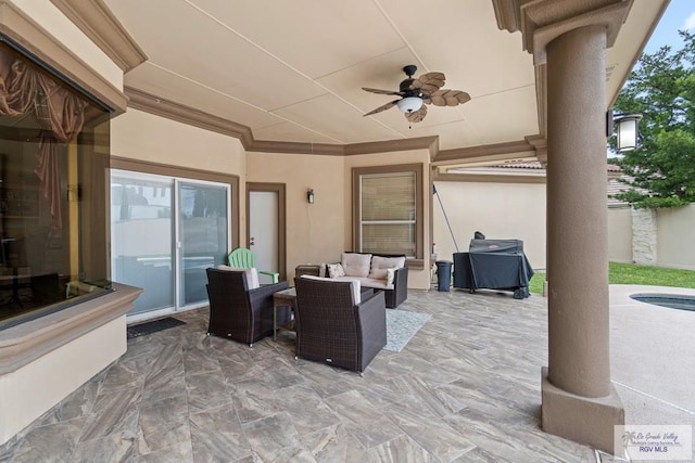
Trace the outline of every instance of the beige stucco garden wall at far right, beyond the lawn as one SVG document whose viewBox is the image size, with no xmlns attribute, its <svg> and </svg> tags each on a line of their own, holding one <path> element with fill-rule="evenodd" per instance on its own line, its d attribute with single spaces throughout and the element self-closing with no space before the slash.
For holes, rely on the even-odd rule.
<svg viewBox="0 0 695 463">
<path fill-rule="evenodd" d="M 658 209 L 658 265 L 695 270 L 695 204 Z"/>
</svg>

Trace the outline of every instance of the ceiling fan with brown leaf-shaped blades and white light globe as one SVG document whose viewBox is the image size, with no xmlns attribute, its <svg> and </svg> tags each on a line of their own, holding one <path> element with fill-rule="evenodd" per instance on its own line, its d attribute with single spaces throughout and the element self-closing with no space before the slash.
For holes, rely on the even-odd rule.
<svg viewBox="0 0 695 463">
<path fill-rule="evenodd" d="M 408 78 L 401 82 L 399 91 L 395 92 L 363 87 L 363 90 L 371 93 L 396 94 L 401 97 L 399 100 L 393 100 L 370 111 L 365 114 L 365 116 L 370 116 L 389 110 L 390 107 L 397 106 L 408 121 L 419 123 L 427 116 L 427 106 L 422 103 L 433 104 L 434 106 L 456 106 L 470 100 L 470 95 L 465 91 L 442 89 L 441 87 L 444 85 L 445 79 L 443 73 L 427 73 L 414 79 L 413 75 L 416 70 L 417 66 L 413 64 L 403 67 L 403 72 Z"/>
</svg>

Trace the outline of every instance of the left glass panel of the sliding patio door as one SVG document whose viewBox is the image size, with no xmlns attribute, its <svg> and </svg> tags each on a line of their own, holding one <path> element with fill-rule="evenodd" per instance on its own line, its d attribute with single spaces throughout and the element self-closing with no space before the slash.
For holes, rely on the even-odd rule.
<svg viewBox="0 0 695 463">
<path fill-rule="evenodd" d="M 166 177 L 112 171 L 112 280 L 143 290 L 129 314 L 174 306 L 173 188 Z"/>
</svg>

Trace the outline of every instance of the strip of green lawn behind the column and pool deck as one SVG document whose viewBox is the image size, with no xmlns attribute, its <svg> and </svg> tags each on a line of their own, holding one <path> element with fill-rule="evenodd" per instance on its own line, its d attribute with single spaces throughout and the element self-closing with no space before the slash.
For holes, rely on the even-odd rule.
<svg viewBox="0 0 695 463">
<path fill-rule="evenodd" d="M 544 280 L 545 273 L 535 273 L 529 283 L 531 293 L 543 294 Z M 608 283 L 695 288 L 695 271 L 610 262 L 608 265 Z"/>
</svg>

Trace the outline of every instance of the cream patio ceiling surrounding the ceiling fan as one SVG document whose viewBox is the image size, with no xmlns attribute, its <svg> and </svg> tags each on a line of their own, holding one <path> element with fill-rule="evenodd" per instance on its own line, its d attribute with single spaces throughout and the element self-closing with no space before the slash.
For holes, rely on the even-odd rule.
<svg viewBox="0 0 695 463">
<path fill-rule="evenodd" d="M 608 51 L 610 100 L 665 0 L 635 0 Z M 497 28 L 492 0 L 105 0 L 149 61 L 134 89 L 252 129 L 255 140 L 358 143 L 439 136 L 442 150 L 539 133 L 532 56 Z M 422 123 L 396 107 L 404 65 L 439 70 L 468 92 L 429 106 Z"/>
</svg>

